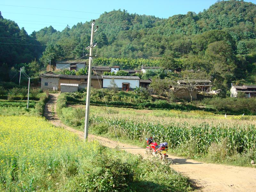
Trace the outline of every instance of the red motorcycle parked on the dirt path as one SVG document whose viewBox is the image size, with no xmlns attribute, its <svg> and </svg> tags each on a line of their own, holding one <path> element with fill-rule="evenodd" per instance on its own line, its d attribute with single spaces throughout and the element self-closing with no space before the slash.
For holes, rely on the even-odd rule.
<svg viewBox="0 0 256 192">
<path fill-rule="evenodd" d="M 148 139 L 146 138 L 148 145 L 146 148 L 146 154 L 157 156 L 159 159 L 165 159 L 168 157 L 168 155 L 166 155 L 166 151 L 168 151 L 168 143 L 164 142 L 157 145 L 154 139 L 155 138 L 153 137 Z"/>
</svg>

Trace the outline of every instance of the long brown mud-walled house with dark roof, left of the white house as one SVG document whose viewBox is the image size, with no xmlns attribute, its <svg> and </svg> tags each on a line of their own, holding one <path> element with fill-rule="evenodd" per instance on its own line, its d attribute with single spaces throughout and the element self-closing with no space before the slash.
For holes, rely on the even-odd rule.
<svg viewBox="0 0 256 192">
<path fill-rule="evenodd" d="M 67 86 L 73 86 L 70 92 L 74 90 L 74 85 L 66 84 L 78 84 L 78 90 L 87 87 L 88 76 L 87 75 L 63 75 L 63 74 L 41 74 L 41 89 L 62 91 L 61 87 L 65 88 L 67 92 Z M 65 84 L 61 86 L 61 84 Z M 102 76 L 92 76 L 91 87 L 100 89 L 102 87 Z"/>
</svg>

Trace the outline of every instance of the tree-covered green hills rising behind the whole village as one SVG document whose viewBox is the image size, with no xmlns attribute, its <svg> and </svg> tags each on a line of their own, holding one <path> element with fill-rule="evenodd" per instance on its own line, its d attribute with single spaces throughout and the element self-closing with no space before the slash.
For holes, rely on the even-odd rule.
<svg viewBox="0 0 256 192">
<path fill-rule="evenodd" d="M 141 64 L 199 69 L 211 77 L 216 87 L 231 82 L 255 84 L 255 15 L 255 4 L 236 0 L 218 1 L 198 14 L 188 12 L 168 19 L 125 10 L 104 12 L 95 20 L 99 30 L 95 33 L 94 52 L 99 58 L 94 61 L 97 65 L 119 65 L 123 69 Z M 1 45 L 2 68 L 3 63 L 10 68 L 16 63 L 38 60 L 40 55 L 40 63 L 45 65 L 49 60 L 54 63 L 78 59 L 90 42 L 92 21 L 67 26 L 61 32 L 52 26 L 45 27 L 30 36 L 14 21 L 0 16 L 0 22 L 6 26 L 0 28 L 0 37 L 8 37 L 1 38 L 1 42 L 18 43 Z M 36 68 L 38 65 L 35 63 Z M 14 74 L 20 66 L 12 70 Z M 26 70 L 30 70 L 29 66 Z"/>
</svg>

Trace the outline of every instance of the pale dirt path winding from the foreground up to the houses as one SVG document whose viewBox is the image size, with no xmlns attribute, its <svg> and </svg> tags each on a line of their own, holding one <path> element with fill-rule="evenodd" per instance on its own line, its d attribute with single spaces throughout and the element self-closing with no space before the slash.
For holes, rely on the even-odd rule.
<svg viewBox="0 0 256 192">
<path fill-rule="evenodd" d="M 78 131 L 65 124 L 55 117 L 52 117 L 52 106 L 54 106 L 54 111 L 56 111 L 56 99 L 58 94 L 50 94 L 51 99 L 45 106 L 45 117 L 52 124 L 56 126 L 65 127 L 71 132 L 78 134 L 80 138 L 84 138 L 84 132 Z M 90 135 L 90 139 L 98 140 L 102 145 L 108 146 L 110 148 L 115 148 L 119 146 L 120 148 L 126 150 L 129 153 L 140 154 L 145 156 L 145 149 L 136 146 L 131 146 L 123 143 L 118 143 L 116 141 L 108 140 L 103 137 Z M 170 156 L 169 158 L 173 161 L 172 168 L 183 175 L 188 176 L 199 191 L 207 192 L 217 192 L 217 191 L 230 191 L 230 192 L 240 192 L 240 191 L 256 191 L 256 169 L 249 167 L 236 167 L 229 165 L 220 164 L 206 164 L 198 162 L 191 159 L 184 159 L 177 156 Z"/>
</svg>

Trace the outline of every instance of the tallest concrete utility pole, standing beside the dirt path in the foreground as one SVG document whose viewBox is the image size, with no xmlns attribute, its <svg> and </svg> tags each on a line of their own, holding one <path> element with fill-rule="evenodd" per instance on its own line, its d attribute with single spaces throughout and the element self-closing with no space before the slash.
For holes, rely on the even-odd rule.
<svg viewBox="0 0 256 192">
<path fill-rule="evenodd" d="M 90 46 L 87 47 L 87 49 L 90 49 L 90 55 L 89 55 L 89 67 L 88 67 L 88 81 L 87 81 L 87 92 L 86 92 L 86 107 L 85 107 L 85 121 L 84 121 L 84 139 L 88 137 L 88 128 L 89 128 L 89 110 L 90 110 L 90 92 L 91 92 L 91 78 L 92 78 L 92 49 L 96 46 L 96 44 L 93 44 L 93 36 L 94 33 L 98 30 L 94 31 L 94 23 L 95 20 L 92 21 L 92 31 L 91 31 L 91 43 Z"/>
</svg>

